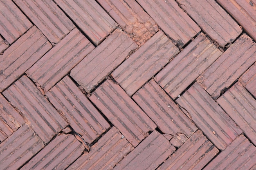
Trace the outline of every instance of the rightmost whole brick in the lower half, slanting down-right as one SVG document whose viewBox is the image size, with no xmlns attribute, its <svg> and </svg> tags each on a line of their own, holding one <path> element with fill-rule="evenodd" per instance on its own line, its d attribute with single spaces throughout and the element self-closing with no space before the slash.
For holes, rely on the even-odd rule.
<svg viewBox="0 0 256 170">
<path fill-rule="evenodd" d="M 196 82 L 176 101 L 220 150 L 243 132 Z"/>
</svg>

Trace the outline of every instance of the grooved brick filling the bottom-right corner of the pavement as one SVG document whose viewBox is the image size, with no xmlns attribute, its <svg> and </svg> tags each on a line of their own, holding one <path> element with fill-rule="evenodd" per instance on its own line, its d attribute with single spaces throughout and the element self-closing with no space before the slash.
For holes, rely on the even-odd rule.
<svg viewBox="0 0 256 170">
<path fill-rule="evenodd" d="M 204 170 L 250 170 L 255 164 L 256 147 L 240 135 L 214 158 Z"/>
</svg>

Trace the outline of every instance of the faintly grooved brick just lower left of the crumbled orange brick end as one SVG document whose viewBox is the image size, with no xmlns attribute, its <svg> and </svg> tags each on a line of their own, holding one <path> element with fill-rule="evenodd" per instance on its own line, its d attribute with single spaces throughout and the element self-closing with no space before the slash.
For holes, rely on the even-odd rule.
<svg viewBox="0 0 256 170">
<path fill-rule="evenodd" d="M 120 29 L 116 29 L 104 42 L 87 55 L 70 76 L 90 93 L 137 45 Z"/>
</svg>

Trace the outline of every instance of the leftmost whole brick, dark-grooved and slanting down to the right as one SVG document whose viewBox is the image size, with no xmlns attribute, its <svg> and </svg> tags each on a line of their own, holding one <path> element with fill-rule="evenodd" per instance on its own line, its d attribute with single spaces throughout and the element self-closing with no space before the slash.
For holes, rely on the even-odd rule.
<svg viewBox="0 0 256 170">
<path fill-rule="evenodd" d="M 21 111 L 27 124 L 45 143 L 67 126 L 67 122 L 25 75 L 7 88 L 3 95 Z"/>
</svg>

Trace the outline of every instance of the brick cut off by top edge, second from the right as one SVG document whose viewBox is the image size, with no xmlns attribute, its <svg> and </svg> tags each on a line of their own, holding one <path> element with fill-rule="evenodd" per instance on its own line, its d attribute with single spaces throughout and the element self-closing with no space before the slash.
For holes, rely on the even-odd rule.
<svg viewBox="0 0 256 170">
<path fill-rule="evenodd" d="M 201 29 L 220 46 L 233 42 L 241 28 L 215 0 L 177 0 Z"/>
</svg>

